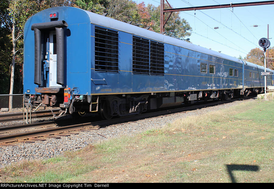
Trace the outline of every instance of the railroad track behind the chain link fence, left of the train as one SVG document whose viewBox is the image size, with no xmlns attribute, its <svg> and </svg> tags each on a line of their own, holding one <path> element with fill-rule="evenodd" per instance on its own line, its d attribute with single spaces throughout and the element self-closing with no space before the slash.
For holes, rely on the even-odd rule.
<svg viewBox="0 0 274 189">
<path fill-rule="evenodd" d="M 52 110 L 53 112 L 58 112 L 59 110 Z M 30 118 L 30 114 L 28 115 Z M 42 118 L 42 117 L 52 117 L 50 110 L 32 112 L 32 118 Z M 18 113 L 9 113 L 9 114 L 0 114 L 0 122 L 5 123 L 9 121 L 16 121 L 23 119 L 23 112 Z"/>
</svg>

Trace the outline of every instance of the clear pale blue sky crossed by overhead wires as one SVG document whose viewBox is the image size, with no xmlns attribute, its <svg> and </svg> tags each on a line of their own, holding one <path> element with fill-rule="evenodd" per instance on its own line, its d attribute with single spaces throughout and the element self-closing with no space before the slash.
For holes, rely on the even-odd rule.
<svg viewBox="0 0 274 189">
<path fill-rule="evenodd" d="M 174 8 L 258 1 L 260 0 L 168 0 Z M 135 2 L 160 5 L 160 0 L 135 0 Z M 190 41 L 214 51 L 221 51 L 237 58 L 239 55 L 245 57 L 252 48 L 259 47 L 260 38 L 267 38 L 267 24 L 269 24 L 269 38 L 272 38 L 269 39 L 271 47 L 274 46 L 274 5 L 236 7 L 233 8 L 233 12 L 230 8 L 201 10 L 201 12 L 199 10 L 184 11 L 180 12 L 180 16 L 192 27 Z M 219 29 L 215 30 L 214 27 Z"/>
</svg>

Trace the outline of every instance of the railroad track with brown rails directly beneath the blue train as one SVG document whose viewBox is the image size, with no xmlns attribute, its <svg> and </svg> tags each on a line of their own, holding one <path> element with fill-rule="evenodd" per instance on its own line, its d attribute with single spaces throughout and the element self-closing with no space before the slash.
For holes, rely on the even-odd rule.
<svg viewBox="0 0 274 189">
<path fill-rule="evenodd" d="M 33 124 L 25 124 L 25 125 L 18 125 L 18 126 L 1 127 L 0 133 L 9 133 L 11 131 L 29 129 L 29 128 L 41 128 L 41 127 L 46 127 L 46 128 L 45 129 L 42 128 L 42 129 L 34 130 L 34 131 L 26 131 L 26 132 L 21 132 L 21 133 L 2 135 L 2 136 L 0 136 L 0 144 L 3 145 L 5 143 L 9 143 L 9 142 L 23 141 L 23 140 L 33 139 L 33 138 L 37 138 L 37 137 L 44 137 L 44 136 L 49 136 L 49 135 L 60 135 L 60 134 L 65 135 L 67 132 L 83 130 L 83 129 L 88 129 L 88 130 L 100 129 L 101 127 L 106 127 L 109 125 L 127 123 L 127 122 L 132 122 L 132 121 L 137 121 L 140 119 L 147 119 L 147 118 L 157 117 L 157 116 L 165 116 L 165 115 L 172 114 L 172 113 L 201 109 L 204 107 L 220 105 L 220 104 L 230 103 L 230 102 L 234 102 L 237 100 L 244 100 L 244 99 L 249 99 L 249 98 L 254 98 L 254 97 L 255 96 L 245 97 L 245 98 L 235 98 L 235 99 L 231 99 L 231 100 L 227 100 L 227 101 L 209 102 L 206 104 L 198 104 L 198 105 L 192 105 L 192 106 L 187 106 L 187 107 L 166 109 L 166 110 L 161 110 L 161 111 L 157 111 L 157 112 L 148 112 L 148 113 L 143 113 L 140 115 L 119 117 L 119 118 L 114 118 L 114 119 L 110 119 L 110 120 L 97 120 L 97 121 L 93 121 L 93 122 L 78 123 L 78 124 L 73 124 L 73 123 L 68 124 L 68 123 L 71 123 L 71 120 L 62 120 L 62 121 L 49 121 L 49 122 L 43 122 L 43 123 L 33 123 Z M 88 118 L 90 118 L 90 117 L 86 117 L 85 121 L 87 121 Z M 66 125 L 66 124 L 68 124 L 68 125 Z M 50 127 L 52 125 L 55 125 L 57 127 L 54 127 L 54 128 Z"/>
</svg>

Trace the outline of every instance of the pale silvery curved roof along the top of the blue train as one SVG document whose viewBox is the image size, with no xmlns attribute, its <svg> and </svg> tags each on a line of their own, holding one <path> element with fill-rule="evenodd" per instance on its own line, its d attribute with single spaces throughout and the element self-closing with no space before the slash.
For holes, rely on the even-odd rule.
<svg viewBox="0 0 274 189">
<path fill-rule="evenodd" d="M 56 8 L 57 9 L 62 9 L 63 8 L 63 9 L 67 9 L 67 10 L 68 9 L 79 9 L 79 8 L 75 8 L 75 7 L 53 7 L 53 8 L 50 8 L 50 9 L 56 9 Z M 85 11 L 88 14 L 89 18 L 90 18 L 90 23 L 93 23 L 93 24 L 96 24 L 96 25 L 99 25 L 99 26 L 109 27 L 109 28 L 112 28 L 112 29 L 115 29 L 115 30 L 119 30 L 119 31 L 131 33 L 131 34 L 134 34 L 134 35 L 138 35 L 138 36 L 141 36 L 141 37 L 153 39 L 155 41 L 160 41 L 160 42 L 167 43 L 167 44 L 170 44 L 170 45 L 176 45 L 176 46 L 183 47 L 183 48 L 186 48 L 186 49 L 189 49 L 189 50 L 205 53 L 205 54 L 208 54 L 208 55 L 213 55 L 213 56 L 220 57 L 220 58 L 227 59 L 227 60 L 231 60 L 231 61 L 234 61 L 234 62 L 239 62 L 239 63 L 246 62 L 248 66 L 253 66 L 253 67 L 258 67 L 260 69 L 264 69 L 263 66 L 259 66 L 257 64 L 251 63 L 251 62 L 243 61 L 243 60 L 237 59 L 235 57 L 225 55 L 225 54 L 220 53 L 220 52 L 213 51 L 213 50 L 208 49 L 208 48 L 204 48 L 204 47 L 194 45 L 192 43 L 188 43 L 188 42 L 180 40 L 180 39 L 176 39 L 174 37 L 169 37 L 169 36 L 166 36 L 166 35 L 163 35 L 163 34 L 159 34 L 159 33 L 156 33 L 154 31 L 146 30 L 144 28 L 134 26 L 132 24 L 128 24 L 128 23 L 125 23 L 125 22 L 121 22 L 119 20 L 115 20 L 115 19 L 109 18 L 107 16 L 102 16 L 102 15 L 99 15 L 99 14 L 96 14 L 96 13 L 93 13 L 93 12 L 89 12 L 89 11 L 86 11 L 86 10 L 83 10 L 83 9 L 79 9 L 79 11 Z M 41 11 L 41 12 L 43 12 L 43 11 Z M 39 14 L 39 13 L 37 13 L 37 14 Z M 69 20 L 65 20 L 65 21 L 69 24 Z M 81 22 L 81 21 L 79 21 L 79 22 Z M 268 68 L 266 68 L 266 70 L 267 71 L 273 71 L 273 70 L 270 70 Z"/>
</svg>

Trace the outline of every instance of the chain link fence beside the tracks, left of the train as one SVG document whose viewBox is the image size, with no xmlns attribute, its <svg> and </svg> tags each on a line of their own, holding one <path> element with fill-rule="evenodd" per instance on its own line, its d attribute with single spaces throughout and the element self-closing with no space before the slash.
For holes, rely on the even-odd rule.
<svg viewBox="0 0 274 189">
<path fill-rule="evenodd" d="M 26 109 L 23 94 L 0 94 L 0 127 L 51 120 L 51 110 L 58 114 L 60 108 L 37 106 Z"/>
</svg>

